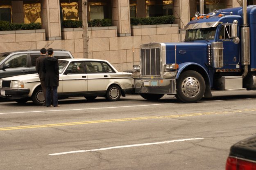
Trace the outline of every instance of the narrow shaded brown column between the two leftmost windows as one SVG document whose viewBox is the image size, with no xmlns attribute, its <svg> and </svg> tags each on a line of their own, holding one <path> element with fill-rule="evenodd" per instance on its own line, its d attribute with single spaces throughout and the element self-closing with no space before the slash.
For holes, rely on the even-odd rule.
<svg viewBox="0 0 256 170">
<path fill-rule="evenodd" d="M 24 7 L 23 0 L 11 1 L 11 12 L 13 23 L 24 23 Z"/>
</svg>

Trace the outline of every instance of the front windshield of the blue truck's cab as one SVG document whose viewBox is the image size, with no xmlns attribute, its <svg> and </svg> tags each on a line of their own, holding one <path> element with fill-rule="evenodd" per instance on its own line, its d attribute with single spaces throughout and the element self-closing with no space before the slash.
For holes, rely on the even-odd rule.
<svg viewBox="0 0 256 170">
<path fill-rule="evenodd" d="M 216 33 L 216 27 L 202 28 L 202 29 L 188 29 L 186 30 L 185 42 L 196 40 L 213 40 Z"/>
</svg>

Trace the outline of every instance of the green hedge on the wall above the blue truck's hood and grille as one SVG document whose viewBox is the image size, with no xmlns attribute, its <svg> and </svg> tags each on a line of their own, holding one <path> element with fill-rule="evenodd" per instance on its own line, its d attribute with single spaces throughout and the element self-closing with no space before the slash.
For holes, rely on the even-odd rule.
<svg viewBox="0 0 256 170">
<path fill-rule="evenodd" d="M 131 18 L 131 25 L 159 25 L 159 24 L 173 24 L 173 15 L 161 17 L 147 17 L 147 18 Z"/>
</svg>

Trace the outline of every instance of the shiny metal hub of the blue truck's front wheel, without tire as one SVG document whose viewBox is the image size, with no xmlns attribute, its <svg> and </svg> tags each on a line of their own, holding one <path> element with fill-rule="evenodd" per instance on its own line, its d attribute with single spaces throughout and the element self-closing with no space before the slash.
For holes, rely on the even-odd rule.
<svg viewBox="0 0 256 170">
<path fill-rule="evenodd" d="M 195 77 L 186 77 L 181 84 L 181 89 L 187 97 L 195 97 L 200 91 L 200 83 Z"/>
</svg>

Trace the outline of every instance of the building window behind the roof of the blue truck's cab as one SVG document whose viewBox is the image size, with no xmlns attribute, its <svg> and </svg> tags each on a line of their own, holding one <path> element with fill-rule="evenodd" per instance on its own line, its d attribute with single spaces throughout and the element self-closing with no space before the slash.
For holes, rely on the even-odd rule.
<svg viewBox="0 0 256 170">
<path fill-rule="evenodd" d="M 197 0 L 197 11 L 200 11 L 200 0 Z M 226 0 L 204 0 L 204 13 L 211 13 L 213 9 L 226 8 Z"/>
</svg>

